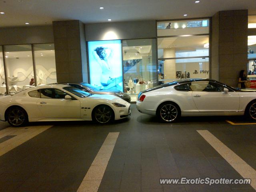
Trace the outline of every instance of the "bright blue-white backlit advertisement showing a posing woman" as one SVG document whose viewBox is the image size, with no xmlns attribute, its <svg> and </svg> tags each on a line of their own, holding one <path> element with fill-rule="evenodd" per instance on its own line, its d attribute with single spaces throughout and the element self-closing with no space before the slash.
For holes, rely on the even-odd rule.
<svg viewBox="0 0 256 192">
<path fill-rule="evenodd" d="M 88 42 L 90 84 L 123 91 L 121 40 Z"/>
</svg>

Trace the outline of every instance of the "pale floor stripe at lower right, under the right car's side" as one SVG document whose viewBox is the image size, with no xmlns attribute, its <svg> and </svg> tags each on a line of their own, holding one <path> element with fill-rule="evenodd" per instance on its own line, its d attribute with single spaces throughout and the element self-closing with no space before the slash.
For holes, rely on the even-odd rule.
<svg viewBox="0 0 256 192">
<path fill-rule="evenodd" d="M 245 179 L 251 179 L 251 186 L 256 190 L 256 171 L 224 145 L 218 138 L 208 130 L 197 130 L 197 132 Z"/>
</svg>

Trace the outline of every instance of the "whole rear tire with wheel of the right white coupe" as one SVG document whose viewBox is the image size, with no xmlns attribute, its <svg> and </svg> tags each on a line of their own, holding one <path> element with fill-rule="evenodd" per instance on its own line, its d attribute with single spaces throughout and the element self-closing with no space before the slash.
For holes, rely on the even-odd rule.
<svg viewBox="0 0 256 192">
<path fill-rule="evenodd" d="M 180 107 L 174 102 L 164 102 L 160 104 L 156 113 L 161 122 L 176 122 L 180 118 Z"/>
</svg>

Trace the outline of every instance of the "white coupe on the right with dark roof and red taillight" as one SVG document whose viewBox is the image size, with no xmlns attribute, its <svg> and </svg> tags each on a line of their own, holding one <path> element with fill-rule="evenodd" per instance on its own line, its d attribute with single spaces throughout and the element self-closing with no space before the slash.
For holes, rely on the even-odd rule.
<svg viewBox="0 0 256 192">
<path fill-rule="evenodd" d="M 211 79 L 178 80 L 144 90 L 136 105 L 163 122 L 180 116 L 244 114 L 256 120 L 256 90 L 239 90 Z"/>
</svg>

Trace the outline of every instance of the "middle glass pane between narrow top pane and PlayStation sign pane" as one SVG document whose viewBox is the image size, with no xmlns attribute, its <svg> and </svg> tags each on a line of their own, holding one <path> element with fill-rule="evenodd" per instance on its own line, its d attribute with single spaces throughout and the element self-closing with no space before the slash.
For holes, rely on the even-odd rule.
<svg viewBox="0 0 256 192">
<path fill-rule="evenodd" d="M 209 56 L 209 35 L 158 38 L 158 58 Z"/>
</svg>

